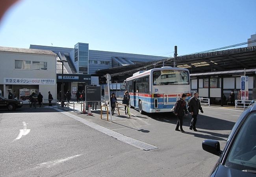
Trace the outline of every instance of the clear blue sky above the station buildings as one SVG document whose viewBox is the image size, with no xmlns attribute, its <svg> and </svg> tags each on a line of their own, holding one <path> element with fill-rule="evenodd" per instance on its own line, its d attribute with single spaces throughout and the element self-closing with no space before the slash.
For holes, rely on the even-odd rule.
<svg viewBox="0 0 256 177">
<path fill-rule="evenodd" d="M 173 56 L 256 33 L 256 0 L 20 0 L 0 23 L 0 46 L 30 44 Z M 52 44 L 51 44 L 52 43 Z"/>
</svg>

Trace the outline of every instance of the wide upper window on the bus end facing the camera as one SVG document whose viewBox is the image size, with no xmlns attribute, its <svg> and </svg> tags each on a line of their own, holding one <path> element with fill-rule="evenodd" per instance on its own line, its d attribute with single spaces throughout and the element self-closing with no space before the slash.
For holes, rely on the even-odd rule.
<svg viewBox="0 0 256 177">
<path fill-rule="evenodd" d="M 189 73 L 185 70 L 154 71 L 153 85 L 189 85 Z"/>
</svg>

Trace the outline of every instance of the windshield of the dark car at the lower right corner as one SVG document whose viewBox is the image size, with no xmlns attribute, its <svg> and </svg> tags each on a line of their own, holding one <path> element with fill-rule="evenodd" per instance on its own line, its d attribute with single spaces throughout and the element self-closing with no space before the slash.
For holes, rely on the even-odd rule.
<svg viewBox="0 0 256 177">
<path fill-rule="evenodd" d="M 256 113 L 240 128 L 226 158 L 225 166 L 241 171 L 256 170 Z"/>
</svg>

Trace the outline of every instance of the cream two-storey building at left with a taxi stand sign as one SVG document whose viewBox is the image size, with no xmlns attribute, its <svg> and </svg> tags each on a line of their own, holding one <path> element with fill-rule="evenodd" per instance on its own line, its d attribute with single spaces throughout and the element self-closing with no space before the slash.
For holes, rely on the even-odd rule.
<svg viewBox="0 0 256 177">
<path fill-rule="evenodd" d="M 56 99 L 56 57 L 49 50 L 0 47 L 0 95 L 16 92 L 16 98 L 29 103 L 32 92 L 48 91 Z"/>
</svg>

